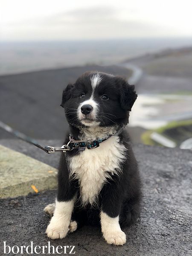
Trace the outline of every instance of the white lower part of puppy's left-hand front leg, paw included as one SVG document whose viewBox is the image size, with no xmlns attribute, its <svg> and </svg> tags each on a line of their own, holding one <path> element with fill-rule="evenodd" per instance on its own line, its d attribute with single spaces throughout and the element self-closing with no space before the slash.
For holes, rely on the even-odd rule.
<svg viewBox="0 0 192 256">
<path fill-rule="evenodd" d="M 47 227 L 47 236 L 51 239 L 62 239 L 70 230 L 71 215 L 75 203 L 75 197 L 70 201 L 57 201 L 52 219 Z"/>
</svg>

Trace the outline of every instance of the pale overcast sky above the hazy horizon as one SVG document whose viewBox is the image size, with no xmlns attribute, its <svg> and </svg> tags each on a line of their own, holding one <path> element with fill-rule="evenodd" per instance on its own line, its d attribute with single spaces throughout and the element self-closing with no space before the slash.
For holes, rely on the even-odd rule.
<svg viewBox="0 0 192 256">
<path fill-rule="evenodd" d="M 191 37 L 191 0 L 0 0 L 1 40 Z"/>
</svg>

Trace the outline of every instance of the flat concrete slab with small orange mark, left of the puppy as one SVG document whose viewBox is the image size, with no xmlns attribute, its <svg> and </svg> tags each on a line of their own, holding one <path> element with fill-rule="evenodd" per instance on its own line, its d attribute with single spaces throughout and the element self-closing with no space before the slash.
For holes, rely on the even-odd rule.
<svg viewBox="0 0 192 256">
<path fill-rule="evenodd" d="M 57 169 L 0 145 L 0 198 L 38 193 L 57 186 Z"/>
</svg>

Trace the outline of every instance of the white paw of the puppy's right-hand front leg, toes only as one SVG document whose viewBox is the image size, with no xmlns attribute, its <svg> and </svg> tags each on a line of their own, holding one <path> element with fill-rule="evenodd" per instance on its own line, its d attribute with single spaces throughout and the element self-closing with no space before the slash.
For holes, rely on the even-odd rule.
<svg viewBox="0 0 192 256">
<path fill-rule="evenodd" d="M 105 232 L 103 237 L 108 244 L 123 245 L 126 243 L 126 235 L 122 230 Z"/>
</svg>

